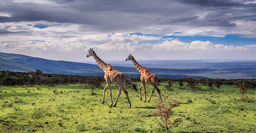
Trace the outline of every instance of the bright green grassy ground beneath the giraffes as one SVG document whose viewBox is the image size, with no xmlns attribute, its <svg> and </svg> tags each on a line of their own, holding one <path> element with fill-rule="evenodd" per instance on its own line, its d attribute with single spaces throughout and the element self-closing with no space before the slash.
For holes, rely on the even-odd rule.
<svg viewBox="0 0 256 133">
<path fill-rule="evenodd" d="M 172 92 L 164 88 L 166 84 L 159 85 L 162 97 Z M 140 85 L 137 83 L 137 88 Z M 79 84 L 1 86 L 0 132 L 167 132 L 156 126 L 153 117 L 154 103 L 158 102 L 156 91 L 150 102 L 144 103 L 144 92 L 140 101 L 140 94 L 127 88 L 132 107 L 128 108 L 122 92 L 116 107 L 108 108 L 108 90 L 105 104 L 101 104 L 104 86 L 96 89 L 96 95 Z M 152 86 L 146 87 L 148 100 Z M 179 89 L 177 82 L 174 83 L 174 95 L 167 102 L 177 99 L 182 104 L 174 108 L 171 118 L 184 120 L 181 128 L 168 132 L 256 132 L 256 90 L 248 90 L 248 100 L 239 100 L 235 86 L 198 87 L 196 91 Z M 117 85 L 112 84 L 113 102 L 117 91 Z"/>
</svg>

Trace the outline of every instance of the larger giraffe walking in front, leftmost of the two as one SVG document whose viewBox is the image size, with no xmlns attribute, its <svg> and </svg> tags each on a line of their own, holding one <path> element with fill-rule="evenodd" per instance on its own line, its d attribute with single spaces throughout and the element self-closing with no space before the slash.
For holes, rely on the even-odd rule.
<svg viewBox="0 0 256 133">
<path fill-rule="evenodd" d="M 111 100 L 111 104 L 109 105 L 109 107 L 112 107 L 113 105 L 113 101 L 112 101 L 112 91 L 111 91 L 111 83 L 117 83 L 117 85 L 119 86 L 118 88 L 118 93 L 117 93 L 117 98 L 115 101 L 115 104 L 113 105 L 113 107 L 116 106 L 116 102 L 119 98 L 119 96 L 121 95 L 121 90 L 124 91 L 124 94 L 127 97 L 127 100 L 129 102 L 129 108 L 131 107 L 131 102 L 130 99 L 128 97 L 128 91 L 125 90 L 125 80 L 129 79 L 127 77 L 125 77 L 125 75 L 123 75 L 121 72 L 118 72 L 117 70 L 114 69 L 114 67 L 110 64 L 105 63 L 104 61 L 102 61 L 94 52 L 93 49 L 88 50 L 88 54 L 86 57 L 89 56 L 93 56 L 94 60 L 96 61 L 96 63 L 99 65 L 99 67 L 105 72 L 104 75 L 104 79 L 106 80 L 107 84 L 104 88 L 104 93 L 103 93 L 103 99 L 102 99 L 102 104 L 105 103 L 105 92 L 107 87 L 109 88 L 109 94 L 110 94 L 110 100 Z M 129 79 L 131 81 L 131 79 Z M 132 81 L 131 81 L 132 82 Z M 134 89 L 136 90 L 135 86 L 133 85 Z"/>
</svg>

